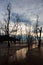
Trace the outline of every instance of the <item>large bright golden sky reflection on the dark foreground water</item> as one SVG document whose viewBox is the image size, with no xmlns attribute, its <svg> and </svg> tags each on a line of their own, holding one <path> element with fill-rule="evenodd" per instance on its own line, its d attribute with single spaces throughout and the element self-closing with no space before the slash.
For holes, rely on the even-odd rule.
<svg viewBox="0 0 43 65">
<path fill-rule="evenodd" d="M 28 48 L 23 48 L 16 51 L 17 60 L 25 59 Z"/>
</svg>

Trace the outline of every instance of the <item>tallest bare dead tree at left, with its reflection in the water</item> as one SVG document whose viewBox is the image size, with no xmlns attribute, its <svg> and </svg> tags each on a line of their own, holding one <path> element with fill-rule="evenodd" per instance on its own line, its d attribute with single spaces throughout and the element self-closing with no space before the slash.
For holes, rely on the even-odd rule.
<svg viewBox="0 0 43 65">
<path fill-rule="evenodd" d="M 7 36 L 9 38 L 9 22 L 10 22 L 10 14 L 11 14 L 11 6 L 10 6 L 10 3 L 7 6 L 7 11 L 8 11 Z M 9 43 L 9 39 L 8 39 L 8 59 L 9 59 L 9 48 L 10 48 L 10 43 Z"/>
</svg>

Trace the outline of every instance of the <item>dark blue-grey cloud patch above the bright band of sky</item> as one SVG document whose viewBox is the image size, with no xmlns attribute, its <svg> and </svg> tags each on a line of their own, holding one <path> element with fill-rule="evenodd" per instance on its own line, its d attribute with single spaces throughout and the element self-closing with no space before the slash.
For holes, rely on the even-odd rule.
<svg viewBox="0 0 43 65">
<path fill-rule="evenodd" d="M 17 13 L 12 13 L 11 20 L 13 22 L 17 22 L 17 18 L 18 18 L 18 22 L 23 22 L 23 23 L 31 24 L 31 20 L 30 19 L 26 19 L 25 16 L 17 14 Z"/>
</svg>

